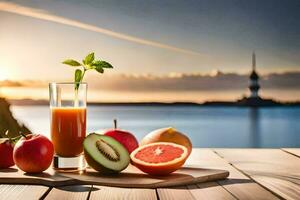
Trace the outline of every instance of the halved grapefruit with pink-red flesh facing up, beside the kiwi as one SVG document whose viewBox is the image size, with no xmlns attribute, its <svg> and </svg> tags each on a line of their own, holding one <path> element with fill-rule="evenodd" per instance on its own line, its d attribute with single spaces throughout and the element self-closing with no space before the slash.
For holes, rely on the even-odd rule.
<svg viewBox="0 0 300 200">
<path fill-rule="evenodd" d="M 140 146 L 131 153 L 130 158 L 145 173 L 166 175 L 184 164 L 188 158 L 188 149 L 171 142 L 157 142 Z"/>
</svg>

